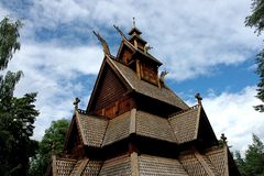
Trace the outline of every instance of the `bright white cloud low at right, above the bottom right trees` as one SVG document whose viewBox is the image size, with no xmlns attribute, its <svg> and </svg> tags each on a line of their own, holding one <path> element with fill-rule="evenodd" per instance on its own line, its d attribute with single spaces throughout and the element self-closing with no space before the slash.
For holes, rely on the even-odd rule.
<svg viewBox="0 0 264 176">
<path fill-rule="evenodd" d="M 246 87 L 240 92 L 222 92 L 220 96 L 205 97 L 202 100 L 206 113 L 218 138 L 224 133 L 231 150 L 244 150 L 252 143 L 252 133 L 263 136 L 263 113 L 253 106 L 261 101 L 254 96 L 255 87 Z"/>
</svg>

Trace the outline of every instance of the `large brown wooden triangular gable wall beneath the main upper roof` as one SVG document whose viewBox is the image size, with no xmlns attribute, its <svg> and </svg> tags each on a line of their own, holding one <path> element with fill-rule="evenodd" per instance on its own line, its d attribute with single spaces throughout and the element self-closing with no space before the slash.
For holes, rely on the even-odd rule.
<svg viewBox="0 0 264 176">
<path fill-rule="evenodd" d="M 132 91 L 132 88 L 117 68 L 111 65 L 109 59 L 111 58 L 105 57 L 87 111 L 88 113 L 112 119 L 121 113 L 119 111 L 120 107 L 124 101 L 129 101 L 128 94 Z M 130 109 L 129 106 L 128 110 Z"/>
</svg>

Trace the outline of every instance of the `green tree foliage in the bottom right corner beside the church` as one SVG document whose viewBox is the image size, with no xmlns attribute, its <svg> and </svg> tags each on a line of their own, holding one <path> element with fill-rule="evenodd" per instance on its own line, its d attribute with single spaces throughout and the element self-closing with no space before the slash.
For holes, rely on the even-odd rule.
<svg viewBox="0 0 264 176">
<path fill-rule="evenodd" d="M 235 153 L 235 163 L 242 176 L 264 176 L 264 144 L 253 134 L 253 142 L 242 158 L 240 152 Z"/>
</svg>

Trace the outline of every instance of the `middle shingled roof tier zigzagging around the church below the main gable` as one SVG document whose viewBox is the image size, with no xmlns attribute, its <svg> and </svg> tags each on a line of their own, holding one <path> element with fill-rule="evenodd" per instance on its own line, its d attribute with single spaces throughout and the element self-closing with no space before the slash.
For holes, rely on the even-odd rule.
<svg viewBox="0 0 264 176">
<path fill-rule="evenodd" d="M 133 133 L 183 144 L 198 139 L 201 110 L 201 106 L 195 106 L 167 119 L 132 109 L 111 120 L 76 111 L 76 121 L 82 143 L 87 146 L 103 147 Z"/>
</svg>

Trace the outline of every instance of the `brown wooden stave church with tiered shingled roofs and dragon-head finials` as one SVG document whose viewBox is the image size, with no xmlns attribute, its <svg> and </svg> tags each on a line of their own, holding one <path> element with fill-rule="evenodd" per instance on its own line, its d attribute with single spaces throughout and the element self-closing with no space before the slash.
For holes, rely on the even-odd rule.
<svg viewBox="0 0 264 176">
<path fill-rule="evenodd" d="M 75 112 L 53 176 L 239 176 L 229 147 L 218 141 L 199 95 L 186 105 L 164 82 L 162 63 L 135 28 L 117 56 L 105 58 L 86 110 Z"/>
</svg>

